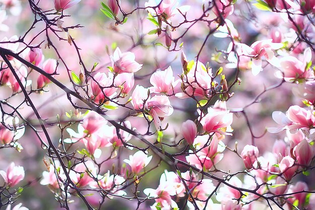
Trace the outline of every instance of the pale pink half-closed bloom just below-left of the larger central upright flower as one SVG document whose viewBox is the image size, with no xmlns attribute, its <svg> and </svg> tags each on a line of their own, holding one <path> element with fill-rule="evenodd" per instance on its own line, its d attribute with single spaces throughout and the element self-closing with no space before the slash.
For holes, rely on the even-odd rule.
<svg viewBox="0 0 315 210">
<path fill-rule="evenodd" d="M 149 90 L 143 86 L 137 85 L 131 95 L 131 104 L 135 110 L 143 109 L 145 101 L 150 98 Z"/>
</svg>

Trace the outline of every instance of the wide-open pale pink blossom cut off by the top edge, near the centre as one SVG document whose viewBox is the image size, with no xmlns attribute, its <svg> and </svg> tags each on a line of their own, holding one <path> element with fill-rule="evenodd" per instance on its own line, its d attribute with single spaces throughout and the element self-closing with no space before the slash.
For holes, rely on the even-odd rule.
<svg viewBox="0 0 315 210">
<path fill-rule="evenodd" d="M 156 7 L 157 5 L 159 5 L 159 7 L 154 10 L 152 7 Z M 162 3 L 158 3 L 155 0 L 148 0 L 148 2 L 144 3 L 144 6 L 152 16 L 162 15 L 165 19 L 170 19 L 175 15 L 180 14 L 180 12 L 185 14 L 190 9 L 190 6 L 187 5 L 178 7 L 178 2 L 176 0 L 163 0 Z"/>
</svg>

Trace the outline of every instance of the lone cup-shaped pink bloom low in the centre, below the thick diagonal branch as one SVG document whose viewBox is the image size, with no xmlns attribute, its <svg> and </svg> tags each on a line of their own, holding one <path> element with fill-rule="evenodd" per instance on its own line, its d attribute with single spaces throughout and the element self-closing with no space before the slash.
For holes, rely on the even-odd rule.
<svg viewBox="0 0 315 210">
<path fill-rule="evenodd" d="M 136 152 L 133 156 L 129 156 L 129 160 L 125 159 L 124 162 L 131 167 L 131 172 L 139 174 L 139 172 L 147 166 L 152 159 L 152 156 L 147 157 L 142 151 Z"/>
</svg>

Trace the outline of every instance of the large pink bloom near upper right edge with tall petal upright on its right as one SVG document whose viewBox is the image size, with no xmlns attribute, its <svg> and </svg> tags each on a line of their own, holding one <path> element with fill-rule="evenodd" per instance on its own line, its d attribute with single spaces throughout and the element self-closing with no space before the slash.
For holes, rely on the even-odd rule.
<svg viewBox="0 0 315 210">
<path fill-rule="evenodd" d="M 294 82 L 296 79 L 314 78 L 314 74 L 310 69 L 306 69 L 307 63 L 311 61 L 311 50 L 304 50 L 303 61 L 293 56 L 286 56 L 280 59 L 281 73 L 277 73 L 277 77 L 284 78 L 287 82 Z"/>
</svg>

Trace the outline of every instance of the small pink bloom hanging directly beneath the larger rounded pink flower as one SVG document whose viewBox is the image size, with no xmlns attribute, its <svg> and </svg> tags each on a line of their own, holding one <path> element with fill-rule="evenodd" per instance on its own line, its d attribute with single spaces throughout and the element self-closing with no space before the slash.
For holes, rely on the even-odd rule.
<svg viewBox="0 0 315 210">
<path fill-rule="evenodd" d="M 122 73 L 117 75 L 115 77 L 114 84 L 120 88 L 120 92 L 123 94 L 123 96 L 127 95 L 134 86 L 133 73 Z"/>
</svg>

